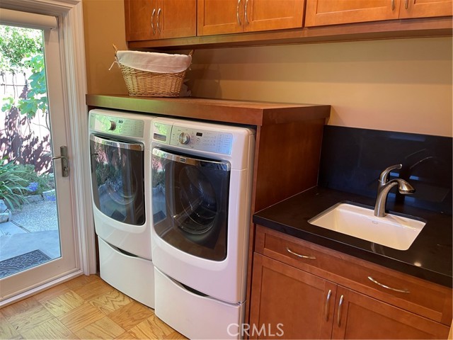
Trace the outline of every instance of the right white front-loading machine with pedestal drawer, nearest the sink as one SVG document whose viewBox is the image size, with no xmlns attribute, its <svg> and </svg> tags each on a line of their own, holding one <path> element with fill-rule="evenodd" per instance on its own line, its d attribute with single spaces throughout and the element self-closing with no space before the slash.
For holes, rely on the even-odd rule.
<svg viewBox="0 0 453 340">
<path fill-rule="evenodd" d="M 171 118 L 151 133 L 156 315 L 190 339 L 237 338 L 256 133 Z"/>
</svg>

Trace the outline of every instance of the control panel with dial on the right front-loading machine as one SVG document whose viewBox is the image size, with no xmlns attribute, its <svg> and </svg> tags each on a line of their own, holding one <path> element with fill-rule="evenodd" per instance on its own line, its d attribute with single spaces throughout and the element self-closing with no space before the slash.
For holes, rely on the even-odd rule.
<svg viewBox="0 0 453 340">
<path fill-rule="evenodd" d="M 153 140 L 217 154 L 231 154 L 233 147 L 233 134 L 229 132 L 185 128 L 156 122 L 154 123 Z"/>
</svg>

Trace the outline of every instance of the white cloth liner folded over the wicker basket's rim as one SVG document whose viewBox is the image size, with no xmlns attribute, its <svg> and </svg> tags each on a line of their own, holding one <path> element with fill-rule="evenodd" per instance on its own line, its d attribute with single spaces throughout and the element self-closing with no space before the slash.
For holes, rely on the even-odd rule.
<svg viewBox="0 0 453 340">
<path fill-rule="evenodd" d="M 154 73 L 178 73 L 190 67 L 191 55 L 169 55 L 167 53 L 117 51 L 118 63 Z"/>
</svg>

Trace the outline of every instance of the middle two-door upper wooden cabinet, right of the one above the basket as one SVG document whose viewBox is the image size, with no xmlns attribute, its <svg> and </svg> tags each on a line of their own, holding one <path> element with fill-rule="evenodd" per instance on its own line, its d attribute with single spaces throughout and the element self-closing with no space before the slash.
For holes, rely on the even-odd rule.
<svg viewBox="0 0 453 340">
<path fill-rule="evenodd" d="M 302 28 L 304 0 L 198 0 L 197 35 Z"/>
</svg>

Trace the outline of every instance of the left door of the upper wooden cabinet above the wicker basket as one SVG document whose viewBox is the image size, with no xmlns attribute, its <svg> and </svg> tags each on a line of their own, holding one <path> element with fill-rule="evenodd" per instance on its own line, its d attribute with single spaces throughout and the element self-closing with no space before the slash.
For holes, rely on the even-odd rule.
<svg viewBox="0 0 453 340">
<path fill-rule="evenodd" d="M 153 39 L 151 16 L 155 1 L 125 0 L 126 40 Z"/>
</svg>

